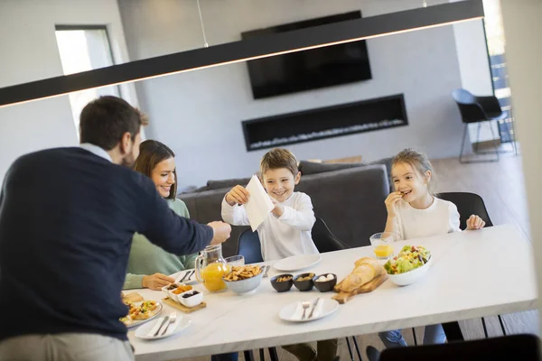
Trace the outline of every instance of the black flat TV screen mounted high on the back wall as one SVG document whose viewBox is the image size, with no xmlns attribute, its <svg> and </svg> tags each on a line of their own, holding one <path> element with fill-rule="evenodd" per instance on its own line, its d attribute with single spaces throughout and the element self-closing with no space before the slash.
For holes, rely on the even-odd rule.
<svg viewBox="0 0 542 361">
<path fill-rule="evenodd" d="M 360 11 L 242 32 L 242 39 L 359 19 Z M 248 60 L 255 99 L 371 79 L 365 41 Z"/>
</svg>

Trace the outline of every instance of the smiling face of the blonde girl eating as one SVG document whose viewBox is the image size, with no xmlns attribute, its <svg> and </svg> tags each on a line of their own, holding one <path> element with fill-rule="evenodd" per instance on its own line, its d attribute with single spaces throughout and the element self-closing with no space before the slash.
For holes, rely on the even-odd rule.
<svg viewBox="0 0 542 361">
<path fill-rule="evenodd" d="M 395 190 L 403 194 L 403 199 L 408 203 L 412 203 L 427 195 L 427 185 L 431 180 L 431 171 L 421 174 L 408 163 L 397 163 L 391 167 L 391 180 Z"/>
</svg>

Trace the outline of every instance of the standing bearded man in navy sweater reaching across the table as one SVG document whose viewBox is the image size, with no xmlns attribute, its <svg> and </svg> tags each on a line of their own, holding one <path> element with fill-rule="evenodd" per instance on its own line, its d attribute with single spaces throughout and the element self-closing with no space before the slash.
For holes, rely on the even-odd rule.
<svg viewBox="0 0 542 361">
<path fill-rule="evenodd" d="M 80 116 L 79 148 L 17 159 L 0 192 L 0 360 L 133 360 L 120 293 L 135 232 L 185 255 L 231 228 L 177 216 L 154 183 L 122 165 L 145 116 L 100 97 Z"/>
</svg>

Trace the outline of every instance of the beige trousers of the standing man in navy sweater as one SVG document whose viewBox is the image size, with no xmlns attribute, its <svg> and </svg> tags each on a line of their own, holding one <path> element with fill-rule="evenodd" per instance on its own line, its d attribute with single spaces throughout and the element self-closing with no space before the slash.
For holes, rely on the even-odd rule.
<svg viewBox="0 0 542 361">
<path fill-rule="evenodd" d="M 89 333 L 28 335 L 0 342 L 0 361 L 134 361 L 127 341 Z"/>
</svg>

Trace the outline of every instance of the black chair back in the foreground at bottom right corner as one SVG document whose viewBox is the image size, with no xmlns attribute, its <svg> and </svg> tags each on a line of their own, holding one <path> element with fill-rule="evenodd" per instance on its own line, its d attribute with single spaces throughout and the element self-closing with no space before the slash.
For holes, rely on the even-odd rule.
<svg viewBox="0 0 542 361">
<path fill-rule="evenodd" d="M 380 361 L 537 361 L 540 358 L 540 340 L 535 335 L 512 335 L 500 338 L 482 338 L 442 345 L 393 347 L 385 349 Z"/>
</svg>

